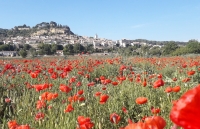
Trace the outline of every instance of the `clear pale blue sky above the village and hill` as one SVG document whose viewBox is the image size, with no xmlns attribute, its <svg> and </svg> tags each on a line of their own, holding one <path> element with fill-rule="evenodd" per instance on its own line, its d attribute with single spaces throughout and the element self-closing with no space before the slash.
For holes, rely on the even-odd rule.
<svg viewBox="0 0 200 129">
<path fill-rule="evenodd" d="M 200 41 L 200 0 L 0 0 L 0 28 L 50 21 L 81 36 Z"/>
</svg>

